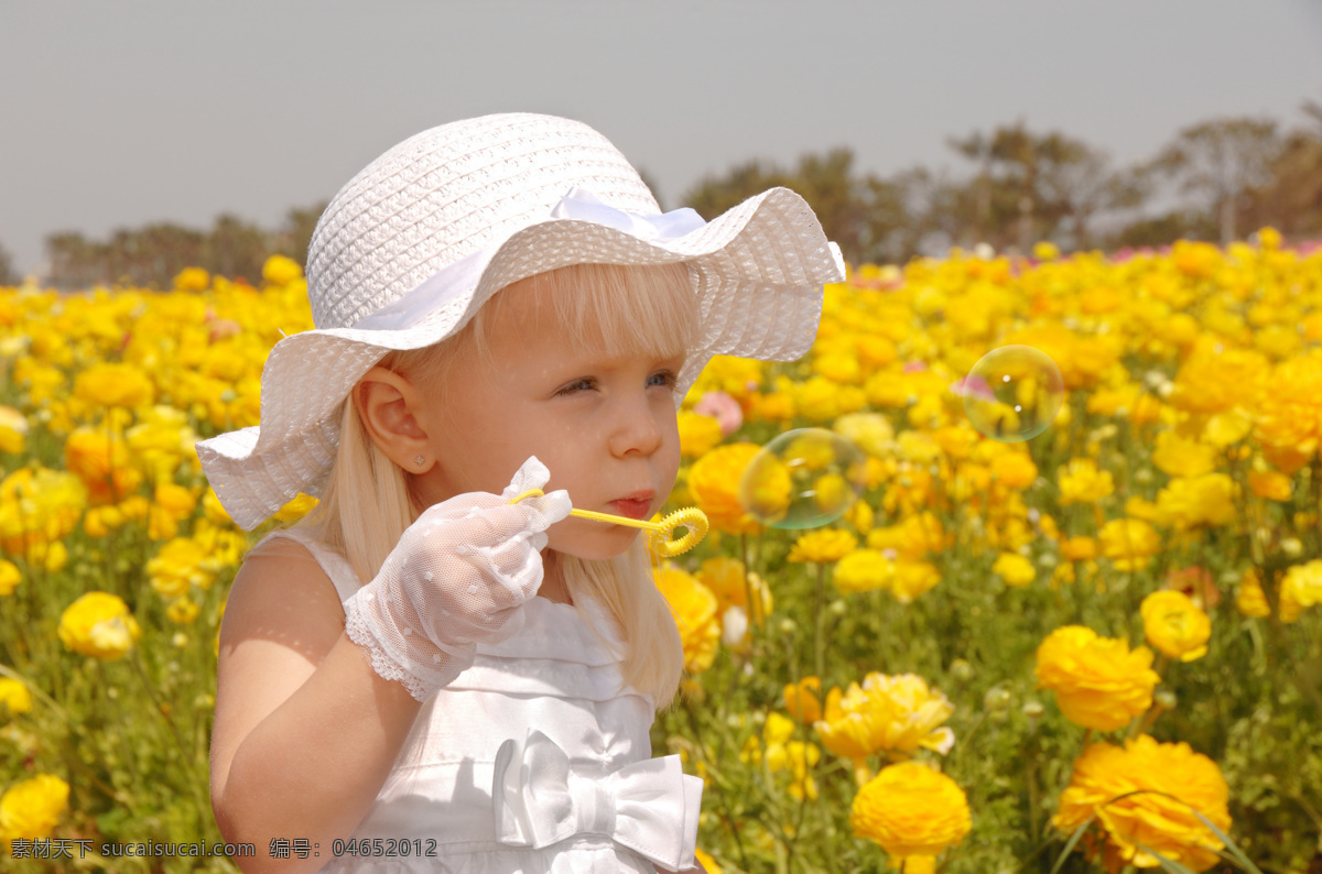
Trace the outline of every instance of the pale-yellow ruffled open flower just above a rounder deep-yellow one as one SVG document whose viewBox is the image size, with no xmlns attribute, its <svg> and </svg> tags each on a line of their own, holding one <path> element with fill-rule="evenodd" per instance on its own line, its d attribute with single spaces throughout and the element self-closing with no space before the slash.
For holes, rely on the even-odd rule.
<svg viewBox="0 0 1322 874">
<path fill-rule="evenodd" d="M 944 755 L 954 745 L 954 733 L 941 726 L 952 713 L 949 698 L 923 677 L 873 672 L 843 694 L 838 687 L 828 692 L 826 709 L 813 727 L 822 746 L 859 766 L 883 750 L 911 754 L 924 747 Z"/>
</svg>

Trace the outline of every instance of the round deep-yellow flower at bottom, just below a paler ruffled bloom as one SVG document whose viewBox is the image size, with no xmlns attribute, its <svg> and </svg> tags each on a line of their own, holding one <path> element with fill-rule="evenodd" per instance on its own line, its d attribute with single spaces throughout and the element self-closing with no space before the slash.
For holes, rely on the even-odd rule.
<svg viewBox="0 0 1322 874">
<path fill-rule="evenodd" d="M 854 796 L 849 815 L 858 837 L 892 857 L 937 856 L 973 826 L 964 790 L 925 764 L 902 762 L 882 768 Z"/>
</svg>

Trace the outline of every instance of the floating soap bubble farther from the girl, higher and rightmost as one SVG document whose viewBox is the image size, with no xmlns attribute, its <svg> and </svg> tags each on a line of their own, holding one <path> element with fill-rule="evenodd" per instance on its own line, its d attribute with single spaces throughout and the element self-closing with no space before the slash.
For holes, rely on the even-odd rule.
<svg viewBox="0 0 1322 874">
<path fill-rule="evenodd" d="M 1055 420 L 1064 401 L 1056 363 L 1032 346 L 994 349 L 951 391 L 964 397 L 969 422 L 992 440 L 1032 440 Z"/>
</svg>

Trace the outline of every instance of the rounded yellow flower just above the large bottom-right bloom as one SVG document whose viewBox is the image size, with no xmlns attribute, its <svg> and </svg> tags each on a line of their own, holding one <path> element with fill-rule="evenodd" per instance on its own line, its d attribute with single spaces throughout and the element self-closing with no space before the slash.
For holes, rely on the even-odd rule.
<svg viewBox="0 0 1322 874">
<path fill-rule="evenodd" d="M 1060 712 L 1087 729 L 1114 731 L 1153 702 L 1161 677 L 1153 652 L 1133 652 L 1125 640 L 1101 638 L 1092 628 L 1056 628 L 1038 647 L 1034 671 L 1039 689 L 1052 689 Z"/>
</svg>

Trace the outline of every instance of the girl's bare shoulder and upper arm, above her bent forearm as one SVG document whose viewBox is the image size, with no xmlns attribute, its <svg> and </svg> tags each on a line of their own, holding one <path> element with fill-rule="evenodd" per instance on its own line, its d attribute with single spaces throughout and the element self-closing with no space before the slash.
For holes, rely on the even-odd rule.
<svg viewBox="0 0 1322 874">
<path fill-rule="evenodd" d="M 307 683 L 341 634 L 340 595 L 305 547 L 272 537 L 245 556 L 221 621 L 213 784 L 223 783 L 243 738 Z"/>
</svg>

